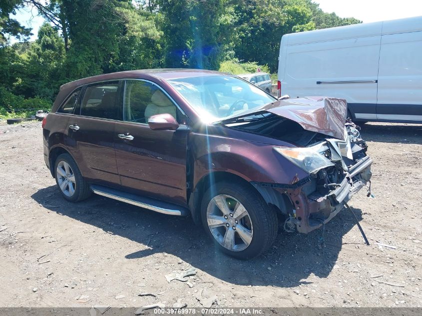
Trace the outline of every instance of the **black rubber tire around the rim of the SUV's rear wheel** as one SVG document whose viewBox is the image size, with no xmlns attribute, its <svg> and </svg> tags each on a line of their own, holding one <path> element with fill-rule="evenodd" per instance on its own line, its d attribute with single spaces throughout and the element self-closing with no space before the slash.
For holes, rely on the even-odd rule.
<svg viewBox="0 0 422 316">
<path fill-rule="evenodd" d="M 58 177 L 57 177 L 57 165 L 61 162 L 66 162 L 69 164 L 71 170 L 73 171 L 73 175 L 75 178 L 75 190 L 72 196 L 67 196 L 63 193 L 60 189 L 58 184 Z M 70 202 L 79 202 L 85 200 L 91 195 L 91 191 L 89 190 L 89 185 L 86 183 L 85 179 L 82 177 L 76 162 L 73 160 L 72 156 L 69 154 L 61 154 L 57 157 L 56 161 L 54 162 L 54 178 L 56 180 L 57 188 L 60 191 L 63 198 Z"/>
</svg>

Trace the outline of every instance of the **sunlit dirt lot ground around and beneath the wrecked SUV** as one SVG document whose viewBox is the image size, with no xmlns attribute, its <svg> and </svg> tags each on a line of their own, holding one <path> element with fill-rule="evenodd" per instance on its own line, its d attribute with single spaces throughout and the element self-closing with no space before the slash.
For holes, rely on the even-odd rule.
<svg viewBox="0 0 422 316">
<path fill-rule="evenodd" d="M 421 307 L 422 125 L 369 123 L 362 135 L 375 198 L 362 190 L 350 205 L 371 246 L 345 210 L 325 232 L 279 234 L 270 252 L 243 262 L 216 252 L 190 218 L 100 196 L 64 201 L 40 123 L 1 122 L 0 307 L 201 307 L 203 288 L 220 307 Z M 167 283 L 190 267 L 192 287 Z"/>
</svg>

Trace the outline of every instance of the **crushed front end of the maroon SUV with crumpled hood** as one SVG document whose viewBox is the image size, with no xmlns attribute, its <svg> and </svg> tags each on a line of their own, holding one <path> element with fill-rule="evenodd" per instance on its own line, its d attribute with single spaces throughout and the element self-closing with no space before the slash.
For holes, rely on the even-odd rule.
<svg viewBox="0 0 422 316">
<path fill-rule="evenodd" d="M 287 231 L 309 233 L 336 216 L 364 186 L 371 194 L 372 159 L 359 126 L 346 119 L 345 100 L 288 99 L 260 110 L 226 126 L 289 144 L 272 148 L 291 163 L 284 168 L 301 172 L 289 181 L 251 182 L 267 203 L 286 213 Z"/>
</svg>

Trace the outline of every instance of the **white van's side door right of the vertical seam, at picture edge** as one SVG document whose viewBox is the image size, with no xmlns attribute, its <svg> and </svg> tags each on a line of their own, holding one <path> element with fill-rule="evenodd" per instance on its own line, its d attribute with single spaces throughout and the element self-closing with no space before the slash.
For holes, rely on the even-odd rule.
<svg viewBox="0 0 422 316">
<path fill-rule="evenodd" d="M 421 51 L 422 31 L 382 35 L 379 120 L 422 121 Z"/>
</svg>

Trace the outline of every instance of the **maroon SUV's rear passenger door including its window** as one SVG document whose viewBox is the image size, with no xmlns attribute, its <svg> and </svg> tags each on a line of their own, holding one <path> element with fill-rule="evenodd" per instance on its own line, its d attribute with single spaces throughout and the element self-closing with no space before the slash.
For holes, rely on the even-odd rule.
<svg viewBox="0 0 422 316">
<path fill-rule="evenodd" d="M 119 81 L 86 86 L 68 120 L 66 145 L 82 175 L 92 183 L 120 185 L 114 152 L 118 89 Z"/>
</svg>

